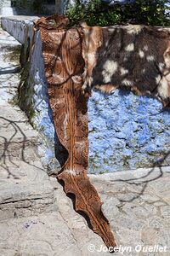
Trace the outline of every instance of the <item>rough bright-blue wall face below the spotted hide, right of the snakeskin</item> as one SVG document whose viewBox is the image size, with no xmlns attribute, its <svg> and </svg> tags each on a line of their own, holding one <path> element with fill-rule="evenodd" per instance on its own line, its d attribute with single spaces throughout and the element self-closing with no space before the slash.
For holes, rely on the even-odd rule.
<svg viewBox="0 0 170 256">
<path fill-rule="evenodd" d="M 170 150 L 170 112 L 162 112 L 156 99 L 122 90 L 111 96 L 94 92 L 88 115 L 89 173 L 153 166 Z"/>
</svg>

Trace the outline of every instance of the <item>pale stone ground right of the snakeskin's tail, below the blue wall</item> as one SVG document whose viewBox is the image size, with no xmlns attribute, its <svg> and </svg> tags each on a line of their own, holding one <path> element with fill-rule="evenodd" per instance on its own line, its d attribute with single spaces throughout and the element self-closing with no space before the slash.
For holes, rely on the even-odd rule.
<svg viewBox="0 0 170 256">
<path fill-rule="evenodd" d="M 169 255 L 169 175 L 168 166 L 89 176 L 105 202 L 103 211 L 118 245 L 132 248 L 121 255 Z M 167 252 L 138 253 L 135 247 L 139 245 L 167 247 Z"/>
</svg>

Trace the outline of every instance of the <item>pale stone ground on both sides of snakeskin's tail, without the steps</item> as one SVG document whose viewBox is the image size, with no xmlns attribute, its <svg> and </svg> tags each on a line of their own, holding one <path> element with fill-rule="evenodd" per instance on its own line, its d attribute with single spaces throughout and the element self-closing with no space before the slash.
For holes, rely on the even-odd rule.
<svg viewBox="0 0 170 256">
<path fill-rule="evenodd" d="M 103 211 L 121 248 L 117 256 L 169 255 L 169 175 L 169 167 L 89 175 L 105 201 Z M 100 237 L 89 230 L 85 219 L 74 211 L 62 186 L 54 177 L 50 181 L 57 212 L 0 221 L 1 255 L 109 256 Z M 155 245 L 164 247 L 166 252 L 136 251 L 137 246 Z M 131 251 L 122 253 L 122 248 L 127 247 Z"/>
</svg>

